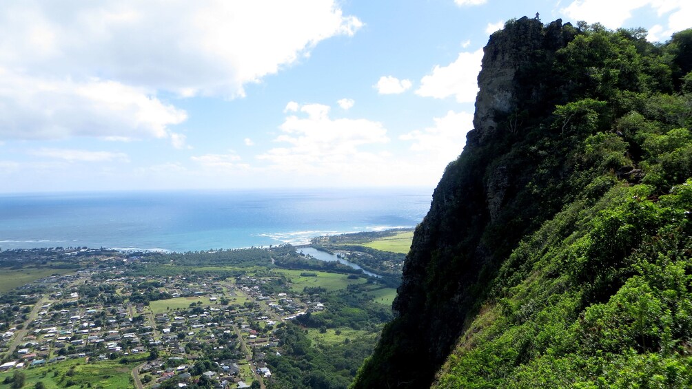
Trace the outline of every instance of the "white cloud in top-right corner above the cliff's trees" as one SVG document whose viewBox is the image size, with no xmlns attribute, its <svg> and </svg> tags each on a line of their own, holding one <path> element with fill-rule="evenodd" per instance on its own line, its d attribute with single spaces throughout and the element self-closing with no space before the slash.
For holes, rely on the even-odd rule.
<svg viewBox="0 0 692 389">
<path fill-rule="evenodd" d="M 668 15 L 668 25 L 645 26 L 650 30 L 648 39 L 668 39 L 673 32 L 689 28 L 692 19 L 692 3 L 689 0 L 575 0 L 560 12 L 574 20 L 599 22 L 611 29 L 620 28 L 632 17 L 632 12 L 649 6 L 659 17 Z"/>
</svg>

